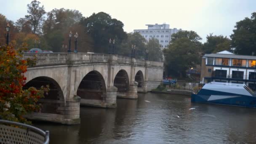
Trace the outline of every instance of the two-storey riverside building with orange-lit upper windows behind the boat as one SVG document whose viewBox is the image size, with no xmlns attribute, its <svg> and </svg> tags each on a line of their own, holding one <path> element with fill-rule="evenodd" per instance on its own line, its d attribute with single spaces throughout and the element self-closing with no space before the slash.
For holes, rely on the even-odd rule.
<svg viewBox="0 0 256 144">
<path fill-rule="evenodd" d="M 256 91 L 256 56 L 221 51 L 205 54 L 201 64 L 201 83 L 243 83 Z"/>
</svg>

